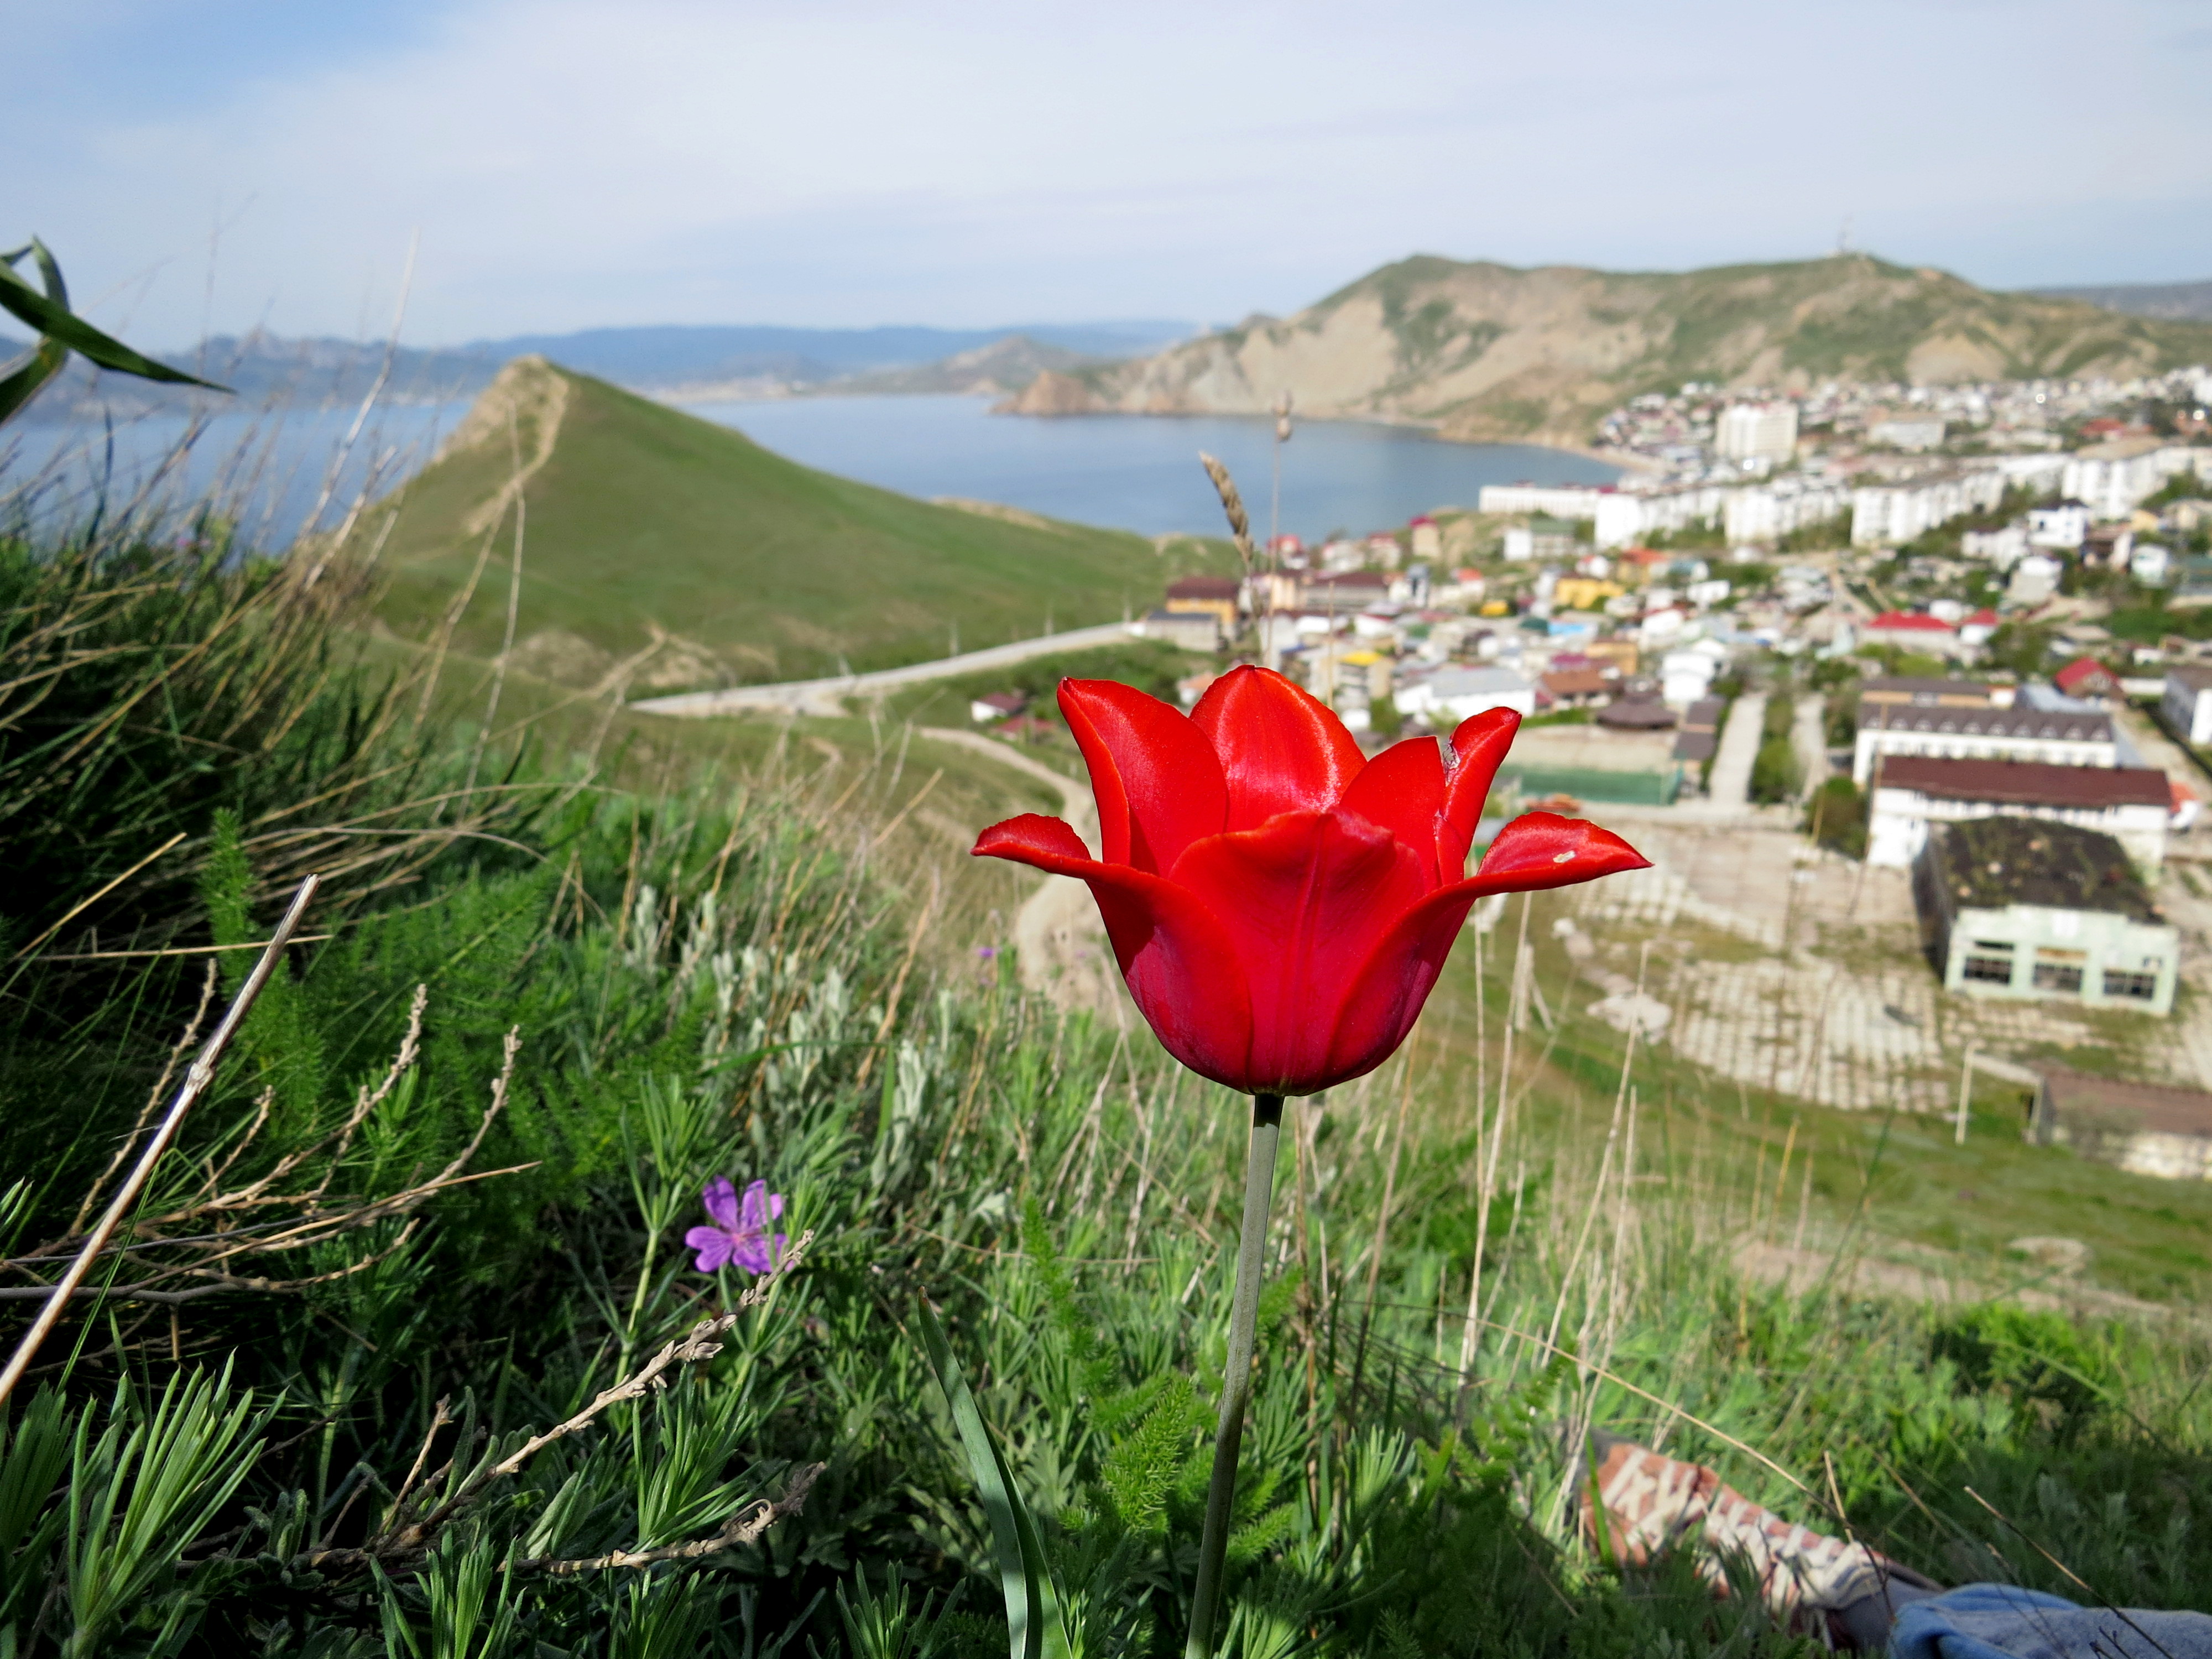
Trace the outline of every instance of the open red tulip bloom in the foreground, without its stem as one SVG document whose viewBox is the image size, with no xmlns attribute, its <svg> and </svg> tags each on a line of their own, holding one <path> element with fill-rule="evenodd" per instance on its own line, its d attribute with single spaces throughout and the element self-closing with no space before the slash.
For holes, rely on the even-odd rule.
<svg viewBox="0 0 2212 1659">
<path fill-rule="evenodd" d="M 1099 856 L 1024 814 L 975 852 L 1091 885 L 1121 978 L 1168 1053 L 1245 1093 L 1312 1095 L 1380 1066 L 1413 1029 L 1484 894 L 1564 887 L 1648 860 L 1608 830 L 1528 812 L 1462 880 L 1520 714 L 1367 761 L 1343 721 L 1267 668 L 1237 668 L 1186 719 L 1110 679 L 1060 681 L 1091 765 Z"/>
</svg>

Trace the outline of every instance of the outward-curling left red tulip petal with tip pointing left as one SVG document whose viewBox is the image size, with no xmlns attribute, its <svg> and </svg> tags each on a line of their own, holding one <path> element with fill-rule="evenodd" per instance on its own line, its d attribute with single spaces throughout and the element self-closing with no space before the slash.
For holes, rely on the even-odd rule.
<svg viewBox="0 0 2212 1659">
<path fill-rule="evenodd" d="M 1161 1046 L 1201 1077 L 1254 1088 L 1252 993 L 1203 898 L 1161 876 L 1097 863 L 1068 825 L 1035 812 L 991 825 L 975 852 L 1088 883 L 1128 993 Z"/>
</svg>

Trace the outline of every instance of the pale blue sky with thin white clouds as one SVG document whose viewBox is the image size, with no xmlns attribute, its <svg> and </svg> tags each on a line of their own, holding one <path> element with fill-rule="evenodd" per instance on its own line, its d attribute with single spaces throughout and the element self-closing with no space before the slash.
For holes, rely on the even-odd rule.
<svg viewBox="0 0 2212 1659">
<path fill-rule="evenodd" d="M 95 321 L 1287 314 L 1411 252 L 2212 276 L 2203 0 L 0 0 Z"/>
</svg>

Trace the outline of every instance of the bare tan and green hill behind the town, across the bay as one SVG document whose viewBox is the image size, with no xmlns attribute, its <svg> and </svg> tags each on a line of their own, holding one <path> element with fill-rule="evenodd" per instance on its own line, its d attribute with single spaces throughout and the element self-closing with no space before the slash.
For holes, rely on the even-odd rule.
<svg viewBox="0 0 2212 1659">
<path fill-rule="evenodd" d="M 1867 254 L 1692 272 L 1517 270 L 1418 254 L 1285 321 L 1040 374 L 1015 414 L 1259 414 L 1436 422 L 1447 438 L 1582 445 L 1683 380 L 1812 385 L 2135 374 L 2212 361 L 2212 325 L 1995 294 Z"/>
</svg>

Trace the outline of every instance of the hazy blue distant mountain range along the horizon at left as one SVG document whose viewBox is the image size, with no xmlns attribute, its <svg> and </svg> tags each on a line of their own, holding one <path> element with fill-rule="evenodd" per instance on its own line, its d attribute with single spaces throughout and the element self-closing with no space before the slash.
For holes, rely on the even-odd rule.
<svg viewBox="0 0 2212 1659">
<path fill-rule="evenodd" d="M 635 392 L 675 398 L 776 396 L 825 389 L 885 389 L 852 385 L 863 376 L 945 365 L 896 389 L 967 389 L 951 385 L 956 367 L 984 365 L 975 389 L 1026 385 L 1037 367 L 1068 367 L 1141 356 L 1188 338 L 1194 323 L 1130 319 L 1106 323 L 1022 323 L 1011 327 L 597 327 L 575 334 L 515 334 L 500 341 L 392 352 L 385 396 L 398 403 L 467 398 L 491 385 L 500 365 L 518 356 L 546 356 Z M 0 334 L 0 361 L 29 349 Z M 978 354 L 984 354 L 978 358 Z M 993 356 L 995 354 L 995 356 Z M 358 403 L 385 372 L 380 343 L 281 338 L 274 334 L 217 334 L 197 349 L 164 361 L 219 380 L 239 403 L 345 405 Z M 1031 363 L 1031 367 L 1022 367 Z M 991 378 L 1013 374 L 1015 378 Z M 206 396 L 206 394 L 201 394 Z M 192 394 L 126 376 L 100 374 L 82 358 L 27 411 L 33 420 L 75 420 L 88 414 L 139 414 L 190 407 Z"/>
</svg>

